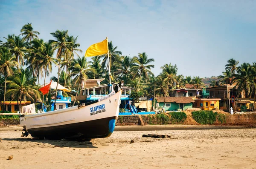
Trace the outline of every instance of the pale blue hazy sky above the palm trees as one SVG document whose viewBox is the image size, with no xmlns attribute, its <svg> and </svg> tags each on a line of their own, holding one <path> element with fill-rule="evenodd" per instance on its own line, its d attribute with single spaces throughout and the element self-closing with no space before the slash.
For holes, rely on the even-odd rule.
<svg viewBox="0 0 256 169">
<path fill-rule="evenodd" d="M 172 63 L 177 74 L 211 77 L 230 58 L 256 62 L 255 16 L 255 0 L 0 0 L 0 40 L 32 23 L 44 41 L 56 30 L 78 35 L 80 56 L 108 37 L 122 55 L 154 58 L 155 76 Z"/>
</svg>

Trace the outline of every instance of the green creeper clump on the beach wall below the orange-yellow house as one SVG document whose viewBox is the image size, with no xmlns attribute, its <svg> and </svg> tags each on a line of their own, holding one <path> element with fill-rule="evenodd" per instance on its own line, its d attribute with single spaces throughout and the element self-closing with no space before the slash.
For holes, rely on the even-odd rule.
<svg viewBox="0 0 256 169">
<path fill-rule="evenodd" d="M 200 124 L 213 124 L 216 121 L 217 112 L 201 110 L 192 112 L 193 119 Z"/>
</svg>

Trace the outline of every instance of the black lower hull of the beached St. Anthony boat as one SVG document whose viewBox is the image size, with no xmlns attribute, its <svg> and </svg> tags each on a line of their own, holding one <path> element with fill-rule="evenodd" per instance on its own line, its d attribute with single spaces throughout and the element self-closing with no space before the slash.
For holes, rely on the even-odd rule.
<svg viewBox="0 0 256 169">
<path fill-rule="evenodd" d="M 66 138 L 82 135 L 83 138 L 104 138 L 111 135 L 109 121 L 116 116 L 80 123 L 27 129 L 36 138 Z"/>
</svg>

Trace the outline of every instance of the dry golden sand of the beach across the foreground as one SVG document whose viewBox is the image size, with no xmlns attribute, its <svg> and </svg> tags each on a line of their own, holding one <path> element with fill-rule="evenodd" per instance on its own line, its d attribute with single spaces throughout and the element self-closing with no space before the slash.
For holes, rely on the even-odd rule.
<svg viewBox="0 0 256 169">
<path fill-rule="evenodd" d="M 113 132 L 91 142 L 20 134 L 0 131 L 0 169 L 256 169 L 256 129 Z"/>
</svg>

